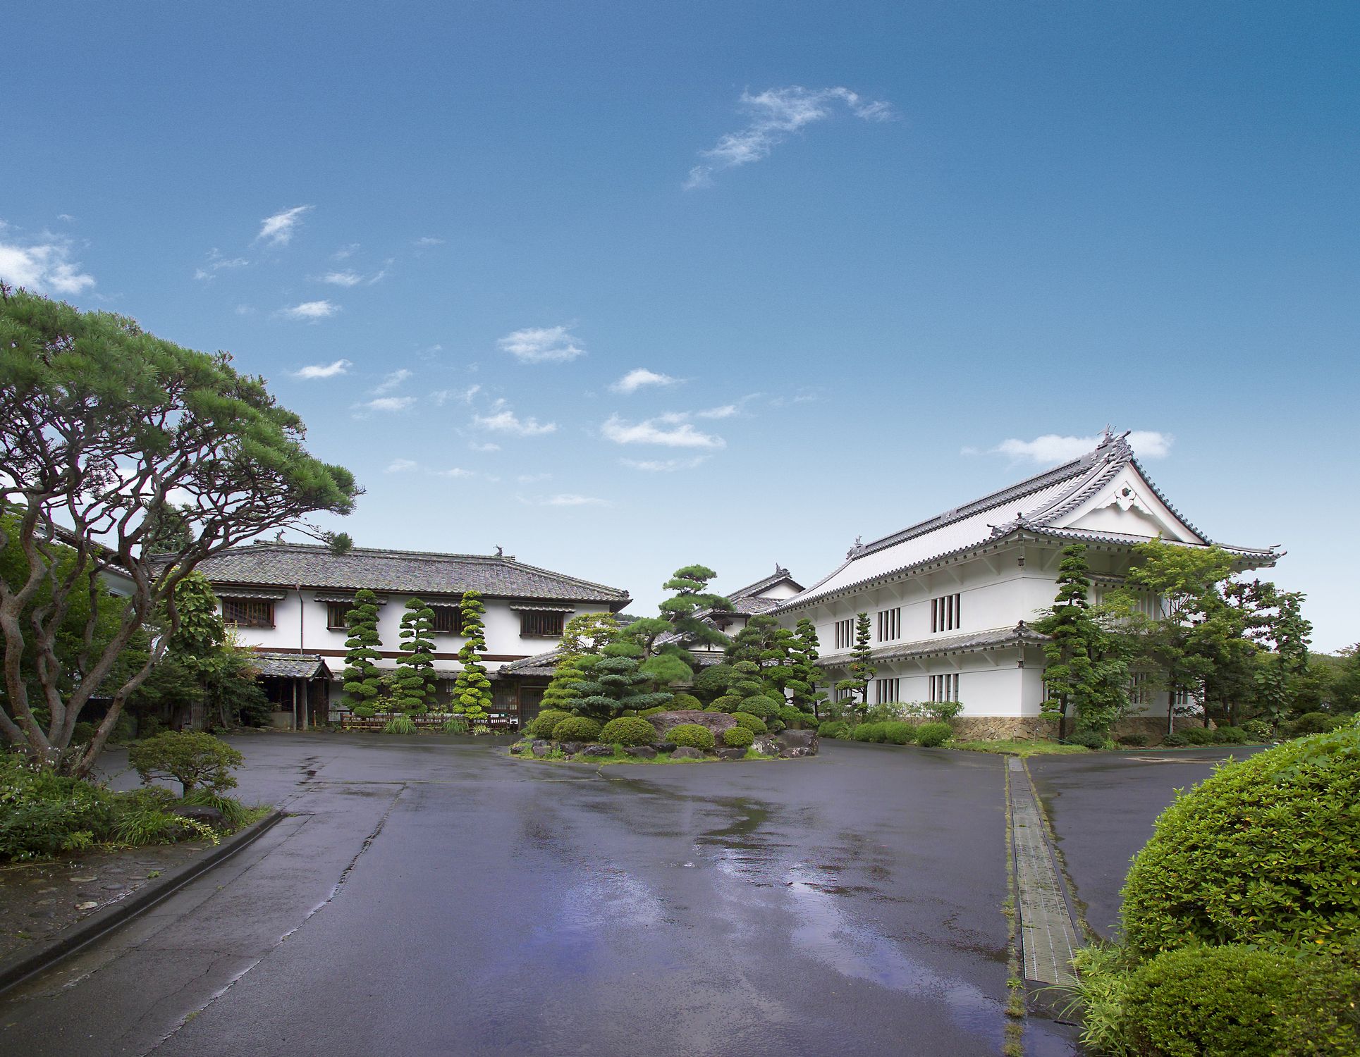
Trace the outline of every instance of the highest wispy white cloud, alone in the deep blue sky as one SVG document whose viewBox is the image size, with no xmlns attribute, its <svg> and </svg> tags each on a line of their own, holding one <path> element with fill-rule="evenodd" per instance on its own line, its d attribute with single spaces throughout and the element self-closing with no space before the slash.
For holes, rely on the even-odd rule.
<svg viewBox="0 0 1360 1057">
<path fill-rule="evenodd" d="M 794 84 L 789 88 L 767 88 L 759 95 L 741 92 L 741 109 L 751 114 L 749 124 L 740 132 L 729 132 L 710 149 L 699 152 L 711 162 L 690 170 L 685 189 L 709 187 L 714 173 L 759 162 L 793 133 L 831 117 L 836 103 L 845 103 L 851 114 L 865 121 L 888 121 L 894 115 L 887 103 L 865 101 L 849 88 L 813 91 Z"/>
</svg>

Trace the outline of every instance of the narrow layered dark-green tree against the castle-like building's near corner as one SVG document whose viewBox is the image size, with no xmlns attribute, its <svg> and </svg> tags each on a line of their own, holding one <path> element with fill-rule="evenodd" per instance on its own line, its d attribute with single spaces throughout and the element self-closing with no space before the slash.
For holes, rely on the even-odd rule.
<svg viewBox="0 0 1360 1057">
<path fill-rule="evenodd" d="M 1091 613 L 1089 572 L 1084 543 L 1064 548 L 1053 609 L 1035 624 L 1049 636 L 1043 647 L 1049 685 L 1043 712 L 1057 716 L 1059 738 L 1072 732 L 1068 724 L 1073 719 L 1078 730 L 1108 738 L 1129 706 L 1129 664 L 1118 637 Z"/>
</svg>

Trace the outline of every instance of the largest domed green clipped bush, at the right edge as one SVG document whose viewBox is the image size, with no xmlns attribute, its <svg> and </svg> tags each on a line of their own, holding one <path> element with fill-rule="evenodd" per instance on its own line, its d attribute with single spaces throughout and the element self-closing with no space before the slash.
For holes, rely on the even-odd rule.
<svg viewBox="0 0 1360 1057">
<path fill-rule="evenodd" d="M 1123 887 L 1140 956 L 1197 943 L 1336 950 L 1360 936 L 1360 730 L 1220 766 L 1157 818 Z"/>
</svg>

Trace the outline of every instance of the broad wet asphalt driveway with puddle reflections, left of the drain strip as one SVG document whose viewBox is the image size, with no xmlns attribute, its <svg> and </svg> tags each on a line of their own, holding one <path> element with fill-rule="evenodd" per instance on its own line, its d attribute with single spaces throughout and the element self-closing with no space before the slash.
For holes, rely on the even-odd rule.
<svg viewBox="0 0 1360 1057">
<path fill-rule="evenodd" d="M 503 742 L 238 743 L 243 798 L 291 817 L 0 1001 L 0 1052 L 1001 1049 L 1000 757 L 597 773 Z M 1031 1053 L 1069 1052 L 1046 1031 Z"/>
</svg>

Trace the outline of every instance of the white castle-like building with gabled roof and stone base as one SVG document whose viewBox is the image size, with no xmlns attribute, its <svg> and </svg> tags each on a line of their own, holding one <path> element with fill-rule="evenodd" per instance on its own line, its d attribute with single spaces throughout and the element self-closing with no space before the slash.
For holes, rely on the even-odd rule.
<svg viewBox="0 0 1360 1057">
<path fill-rule="evenodd" d="M 869 701 L 959 701 L 971 736 L 1046 731 L 1039 719 L 1043 636 L 1030 625 L 1053 605 L 1061 552 L 1085 543 L 1099 594 L 1122 583 L 1132 549 L 1155 537 L 1205 548 L 1134 458 L 1127 433 L 1080 459 L 993 492 L 870 543 L 855 542 L 828 576 L 782 603 L 792 628 L 808 617 L 828 682 L 846 678 L 855 615 L 868 613 L 876 675 Z M 1274 548 L 1238 548 L 1239 569 L 1273 565 Z M 1160 601 L 1149 598 L 1149 611 Z M 1138 701 L 1167 724 L 1170 696 Z"/>
</svg>

